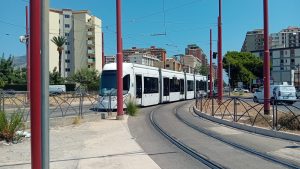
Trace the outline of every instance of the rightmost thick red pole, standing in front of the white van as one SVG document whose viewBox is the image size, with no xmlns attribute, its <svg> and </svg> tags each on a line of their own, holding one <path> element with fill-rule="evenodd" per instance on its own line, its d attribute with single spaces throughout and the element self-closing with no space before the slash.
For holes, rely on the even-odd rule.
<svg viewBox="0 0 300 169">
<path fill-rule="evenodd" d="M 264 114 L 270 114 L 270 52 L 268 13 L 268 0 L 264 0 Z"/>
</svg>

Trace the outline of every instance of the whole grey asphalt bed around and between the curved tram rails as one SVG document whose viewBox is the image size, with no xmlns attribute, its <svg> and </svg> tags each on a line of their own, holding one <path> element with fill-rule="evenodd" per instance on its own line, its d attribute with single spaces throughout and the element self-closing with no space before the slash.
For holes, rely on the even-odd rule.
<svg viewBox="0 0 300 169">
<path fill-rule="evenodd" d="M 244 133 L 238 130 L 233 130 L 224 126 L 216 125 L 212 122 L 201 120 L 189 111 L 190 106 L 183 105 L 185 102 L 171 103 L 162 105 L 155 113 L 155 119 L 159 125 L 173 137 L 184 144 L 204 154 L 207 158 L 222 164 L 226 168 L 284 168 L 282 165 L 265 160 L 245 151 L 233 148 L 221 141 L 213 139 L 207 135 L 199 133 L 188 127 L 186 124 L 179 121 L 174 115 L 173 109 L 178 109 L 178 114 L 185 120 L 199 125 L 203 128 L 208 128 L 216 134 L 221 134 L 223 137 L 243 143 L 245 146 L 250 146 L 260 151 L 272 154 L 279 158 L 285 158 L 287 161 L 294 164 L 300 164 L 297 161 L 299 144 L 288 142 L 279 139 L 253 135 Z M 203 164 L 195 161 L 192 157 L 185 155 L 184 152 L 178 150 L 170 142 L 161 136 L 149 122 L 149 112 L 153 107 L 142 109 L 142 113 L 138 117 L 129 119 L 129 128 L 131 134 L 136 138 L 137 142 L 150 157 L 161 168 L 206 168 Z M 292 149 L 294 148 L 294 149 Z M 293 152 L 288 154 L 286 152 Z M 169 152 L 169 153 L 166 153 Z M 170 153 L 173 152 L 173 153 Z M 300 152 L 300 151 L 299 151 Z M 189 161 L 187 161 L 189 160 Z M 186 164 L 187 162 L 187 164 Z"/>
</svg>

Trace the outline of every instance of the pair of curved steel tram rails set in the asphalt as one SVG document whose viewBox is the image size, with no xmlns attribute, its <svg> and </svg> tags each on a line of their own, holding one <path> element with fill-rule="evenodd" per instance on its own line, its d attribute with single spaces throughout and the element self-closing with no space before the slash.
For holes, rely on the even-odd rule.
<svg viewBox="0 0 300 169">
<path fill-rule="evenodd" d="M 238 149 L 238 150 L 242 150 L 246 153 L 249 153 L 251 155 L 254 155 L 254 156 L 258 156 L 264 160 L 267 160 L 269 162 L 272 162 L 272 163 L 276 163 L 276 164 L 279 164 L 283 167 L 287 167 L 287 168 L 293 168 L 293 169 L 298 169 L 299 166 L 296 165 L 296 164 L 293 164 L 293 163 L 290 163 L 290 162 L 287 162 L 287 161 L 284 161 L 282 159 L 279 159 L 279 158 L 276 158 L 274 156 L 271 156 L 271 155 L 268 155 L 267 153 L 265 152 L 260 152 L 260 151 L 257 151 L 251 147 L 246 147 L 244 145 L 240 145 L 240 144 L 237 144 L 237 143 L 234 143 L 230 140 L 227 140 L 223 137 L 221 137 L 220 135 L 217 135 L 216 133 L 213 133 L 211 131 L 208 131 L 207 129 L 204 129 L 204 128 L 201 128 L 199 126 L 196 126 L 190 122 L 188 122 L 187 120 L 185 120 L 184 118 L 182 118 L 180 115 L 179 115 L 179 110 L 181 107 L 183 107 L 184 105 L 186 105 L 188 103 L 183 103 L 183 104 L 180 104 L 176 107 L 173 108 L 173 113 L 174 115 L 176 116 L 176 118 L 184 123 L 185 125 L 187 125 L 188 127 L 190 127 L 191 129 L 199 132 L 199 133 L 202 133 L 202 134 L 205 134 L 207 135 L 208 137 L 211 137 L 215 140 L 218 140 L 220 142 L 223 142 L 235 149 Z M 215 168 L 215 169 L 219 169 L 219 168 L 227 168 L 225 166 L 223 166 L 222 164 L 210 159 L 209 157 L 207 157 L 206 155 L 204 154 L 201 154 L 200 152 L 194 150 L 193 148 L 189 147 L 188 145 L 184 144 L 183 142 L 179 141 L 176 137 L 172 136 L 170 133 L 168 133 L 167 131 L 165 131 L 156 121 L 155 119 L 155 113 L 157 110 L 159 110 L 162 106 L 159 106 L 157 107 L 156 109 L 152 110 L 151 113 L 150 113 L 150 121 L 152 123 L 152 125 L 155 127 L 155 129 L 160 132 L 167 140 L 169 140 L 172 144 L 176 145 L 179 149 L 181 149 L 182 151 L 184 151 L 185 153 L 187 153 L 188 155 L 192 156 L 193 158 L 195 158 L 196 160 L 200 161 L 201 163 L 207 165 L 208 167 L 210 168 Z M 190 110 L 190 108 L 189 108 Z"/>
</svg>

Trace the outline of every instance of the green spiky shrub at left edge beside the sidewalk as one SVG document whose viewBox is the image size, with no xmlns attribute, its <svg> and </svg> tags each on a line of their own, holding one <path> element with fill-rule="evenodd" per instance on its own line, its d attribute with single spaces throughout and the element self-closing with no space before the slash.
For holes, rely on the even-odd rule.
<svg viewBox="0 0 300 169">
<path fill-rule="evenodd" d="M 0 140 L 12 142 L 15 139 L 16 131 L 23 126 L 23 113 L 16 112 L 7 117 L 5 112 L 0 112 Z"/>
</svg>

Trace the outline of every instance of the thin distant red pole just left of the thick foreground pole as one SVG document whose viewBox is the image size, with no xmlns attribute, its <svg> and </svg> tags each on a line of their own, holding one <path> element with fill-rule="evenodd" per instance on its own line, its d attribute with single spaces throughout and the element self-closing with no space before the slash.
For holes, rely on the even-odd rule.
<svg viewBox="0 0 300 169">
<path fill-rule="evenodd" d="M 30 100 L 30 34 L 29 34 L 29 18 L 28 18 L 28 6 L 25 7 L 26 12 L 26 63 L 27 63 L 27 99 Z"/>
</svg>

